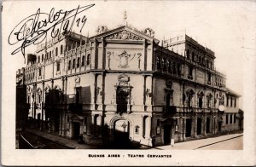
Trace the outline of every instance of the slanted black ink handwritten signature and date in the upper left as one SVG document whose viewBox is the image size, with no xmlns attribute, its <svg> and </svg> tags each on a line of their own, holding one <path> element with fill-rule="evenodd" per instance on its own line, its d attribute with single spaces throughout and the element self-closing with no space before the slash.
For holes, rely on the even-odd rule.
<svg viewBox="0 0 256 167">
<path fill-rule="evenodd" d="M 20 46 L 12 52 L 12 55 L 21 51 L 24 56 L 26 47 L 31 44 L 36 45 L 43 42 L 48 32 L 50 32 L 51 37 L 60 38 L 61 32 L 63 35 L 71 32 L 74 24 L 80 27 L 80 32 L 82 32 L 87 17 L 86 15 L 78 17 L 78 14 L 90 9 L 94 5 L 78 6 L 78 8 L 68 11 L 61 9 L 57 12 L 55 12 L 55 8 L 52 8 L 49 14 L 43 13 L 41 9 L 38 9 L 36 14 L 29 15 L 24 20 L 21 20 L 12 32 L 10 32 L 9 44 L 19 44 Z"/>
</svg>

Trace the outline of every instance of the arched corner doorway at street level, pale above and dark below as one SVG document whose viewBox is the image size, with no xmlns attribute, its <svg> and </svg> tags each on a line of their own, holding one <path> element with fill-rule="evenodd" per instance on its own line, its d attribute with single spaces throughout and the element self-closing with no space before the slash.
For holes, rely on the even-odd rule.
<svg viewBox="0 0 256 167">
<path fill-rule="evenodd" d="M 130 122 L 119 119 L 113 124 L 113 143 L 117 147 L 127 147 L 130 144 Z"/>
</svg>

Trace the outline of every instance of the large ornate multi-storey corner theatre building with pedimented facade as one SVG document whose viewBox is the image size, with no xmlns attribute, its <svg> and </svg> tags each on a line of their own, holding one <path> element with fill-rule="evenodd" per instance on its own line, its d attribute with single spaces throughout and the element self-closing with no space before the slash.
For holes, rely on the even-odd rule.
<svg viewBox="0 0 256 167">
<path fill-rule="evenodd" d="M 70 32 L 27 55 L 32 126 L 88 144 L 152 146 L 242 129 L 242 112 L 215 55 L 187 35 L 160 42 L 150 28 Z M 226 119 L 228 122 L 226 123 Z"/>
</svg>

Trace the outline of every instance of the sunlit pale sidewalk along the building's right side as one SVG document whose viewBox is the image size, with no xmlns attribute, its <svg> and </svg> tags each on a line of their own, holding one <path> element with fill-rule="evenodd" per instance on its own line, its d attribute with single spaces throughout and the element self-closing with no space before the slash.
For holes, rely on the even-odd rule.
<svg viewBox="0 0 256 167">
<path fill-rule="evenodd" d="M 206 146 L 212 145 L 216 142 L 230 140 L 230 139 L 233 139 L 233 138 L 236 138 L 236 137 L 240 137 L 242 135 L 243 135 L 242 133 L 230 134 L 230 135 L 220 135 L 220 136 L 217 136 L 217 137 L 211 137 L 211 138 L 207 138 L 207 139 L 199 139 L 199 140 L 195 140 L 195 141 L 178 142 L 178 143 L 175 143 L 174 147 L 172 147 L 171 145 L 166 145 L 166 146 L 154 147 L 152 149 L 158 149 L 158 150 L 168 150 L 168 149 L 172 149 L 172 150 L 195 150 L 195 149 L 198 149 L 200 147 L 206 147 Z"/>
</svg>

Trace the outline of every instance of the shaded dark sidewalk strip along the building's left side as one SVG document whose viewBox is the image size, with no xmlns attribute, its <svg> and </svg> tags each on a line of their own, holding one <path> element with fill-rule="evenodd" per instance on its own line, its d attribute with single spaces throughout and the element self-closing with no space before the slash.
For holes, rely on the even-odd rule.
<svg viewBox="0 0 256 167">
<path fill-rule="evenodd" d="M 98 146 L 79 144 L 78 141 L 63 138 L 61 136 L 54 135 L 54 134 L 51 134 L 51 133 L 47 133 L 45 131 L 33 130 L 33 129 L 30 129 L 30 128 L 26 128 L 26 131 L 30 132 L 34 135 L 44 137 L 45 139 L 48 139 L 49 141 L 53 141 L 57 144 L 61 144 L 63 146 L 74 148 L 74 149 L 99 149 Z"/>
</svg>

